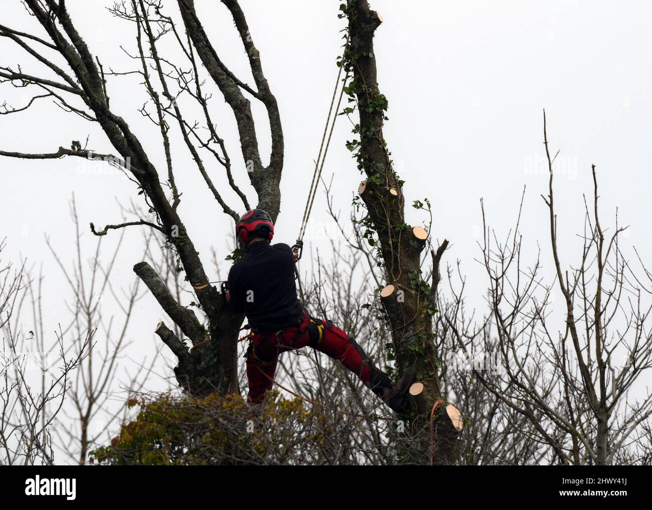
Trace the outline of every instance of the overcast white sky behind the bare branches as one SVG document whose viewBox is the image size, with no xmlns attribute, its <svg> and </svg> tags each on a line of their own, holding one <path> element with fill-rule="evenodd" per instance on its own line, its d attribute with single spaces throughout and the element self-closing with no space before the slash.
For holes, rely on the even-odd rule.
<svg viewBox="0 0 652 510">
<path fill-rule="evenodd" d="M 112 2 L 68 0 L 91 51 L 105 67 L 127 70 L 134 64 L 125 50 L 134 49 L 134 28 L 104 10 Z M 175 12 L 174 2 L 170 12 Z M 251 81 L 246 58 L 228 12 L 217 1 L 197 1 L 201 19 L 222 59 L 231 70 Z M 412 201 L 428 197 L 434 207 L 432 234 L 451 238 L 447 261 L 462 260 L 469 281 L 469 298 L 481 302 L 486 274 L 477 262 L 481 233 L 479 200 L 484 197 L 492 226 L 506 233 L 511 227 L 524 186 L 526 207 L 522 232 L 529 252 L 542 242 L 543 262 L 551 268 L 546 244 L 547 209 L 540 194 L 548 180 L 542 145 L 542 109 L 548 115 L 552 150 L 561 150 L 556 197 L 560 244 L 564 262 L 576 260 L 574 234 L 583 225 L 582 193 L 592 193 L 591 163 L 597 165 L 603 223 L 612 224 L 615 206 L 619 220 L 630 225 L 627 241 L 644 260 L 652 261 L 649 203 L 652 190 L 652 5 L 644 1 L 379 1 L 372 8 L 384 22 L 376 32 L 376 57 L 381 92 L 389 100 L 385 137 L 396 168 L 406 180 Z M 282 180 L 283 203 L 275 239 L 292 244 L 296 238 L 336 76 L 340 53 L 340 1 L 242 0 L 263 67 L 278 98 L 286 156 Z M 17 0 L 3 0 L 1 23 L 25 31 L 35 22 Z M 22 64 L 38 74 L 33 59 L 10 41 L 0 41 L 2 65 Z M 125 117 L 164 173 L 160 135 L 136 108 L 145 94 L 133 78 L 111 78 L 108 92 L 115 113 Z M 22 91 L 0 85 L 0 102 L 20 104 Z M 46 100 L 47 101 L 47 100 Z M 236 163 L 237 179 L 253 199 L 232 115 L 221 98 L 213 100 L 218 129 Z M 263 111 L 256 110 L 263 154 L 268 154 Z M 350 124 L 338 120 L 333 136 L 327 177 L 334 173 L 335 205 L 344 218 L 352 193 L 361 180 L 351 154 Z M 110 150 L 95 126 L 43 102 L 17 115 L 0 117 L 0 149 L 54 152 L 72 140 Z M 178 142 L 178 140 L 177 140 Z M 180 206 L 196 246 L 209 266 L 209 248 L 220 258 L 228 253 L 225 236 L 229 220 L 220 212 L 185 150 L 176 160 L 179 186 L 185 193 Z M 81 165 L 81 166 L 80 166 Z M 76 195 L 82 225 L 122 220 L 118 201 L 138 200 L 132 184 L 120 175 L 83 175 L 85 162 L 74 159 L 20 161 L 0 159 L 0 237 L 7 236 L 8 257 L 42 262 L 46 274 L 48 328 L 65 314 L 61 302 L 63 279 L 45 245 L 45 236 L 66 260 L 72 260 L 74 231 L 68 211 Z M 218 175 L 218 169 L 211 169 Z M 215 177 L 220 182 L 218 177 Z M 224 184 L 222 184 L 224 186 Z M 226 193 L 232 207 L 239 205 Z M 412 224 L 427 221 L 409 211 Z M 307 247 L 327 249 L 321 232 L 333 233 L 319 193 L 312 214 Z M 130 246 L 121 256 L 114 285 L 126 287 L 134 278 L 132 265 L 140 261 L 139 227 L 126 233 Z M 311 235 L 309 233 L 309 236 Z M 106 251 L 117 238 L 106 239 Z M 89 254 L 94 246 L 86 232 Z M 213 275 L 211 275 L 212 277 Z M 153 329 L 163 318 L 154 299 L 141 302 L 132 330 L 144 354 L 153 345 Z M 108 311 L 107 311 L 108 313 Z M 169 319 L 166 319 L 169 322 Z M 134 358 L 139 358 L 138 353 Z"/>
</svg>

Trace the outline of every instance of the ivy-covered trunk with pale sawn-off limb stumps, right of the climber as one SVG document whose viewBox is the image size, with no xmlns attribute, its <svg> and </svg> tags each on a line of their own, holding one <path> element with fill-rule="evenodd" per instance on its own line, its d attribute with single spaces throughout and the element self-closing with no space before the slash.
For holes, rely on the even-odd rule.
<svg viewBox="0 0 652 510">
<path fill-rule="evenodd" d="M 437 377 L 437 354 L 432 333 L 435 313 L 431 287 L 422 278 L 421 253 L 426 246 L 424 229 L 412 229 L 404 218 L 403 182 L 394 172 L 383 137 L 387 99 L 379 92 L 374 55 L 374 32 L 382 22 L 366 0 L 348 0 L 349 48 L 344 57 L 346 70 L 353 72 L 349 95 L 355 98 L 360 116 L 356 149 L 358 168 L 366 175 L 360 196 L 368 214 L 363 225 L 378 235 L 378 255 L 388 287 L 381 302 L 391 326 L 396 368 L 402 373 L 414 366 L 423 387 L 414 399 L 413 427 L 430 429 L 430 412 L 437 401 L 444 401 Z M 437 268 L 434 268 L 434 273 Z M 393 287 L 389 287 L 393 286 Z M 444 408 L 442 406 L 442 408 Z M 451 419 L 444 413 L 433 416 L 432 438 L 436 445 L 434 464 L 455 462 L 458 431 L 451 432 Z M 430 441 L 428 447 L 430 446 Z"/>
</svg>

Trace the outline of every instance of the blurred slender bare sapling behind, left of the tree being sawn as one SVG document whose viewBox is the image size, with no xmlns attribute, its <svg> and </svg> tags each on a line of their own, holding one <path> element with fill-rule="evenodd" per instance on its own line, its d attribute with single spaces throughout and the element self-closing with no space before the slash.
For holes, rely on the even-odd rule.
<svg viewBox="0 0 652 510">
<path fill-rule="evenodd" d="M 70 338 L 67 350 L 80 353 L 83 339 L 88 335 L 93 335 L 93 342 L 85 348 L 87 356 L 70 379 L 67 403 L 53 432 L 57 446 L 68 458 L 84 464 L 89 448 L 108 437 L 118 421 L 128 418 L 128 399 L 145 386 L 156 356 L 149 363 L 147 357 L 125 363 L 132 345 L 128 331 L 134 305 L 143 297 L 138 279 L 128 289 L 115 289 L 111 283 L 125 231 L 121 231 L 112 253 L 106 253 L 106 248 L 101 249 L 106 242 L 103 243 L 104 237 L 100 236 L 96 238 L 93 256 L 86 257 L 74 198 L 70 208 L 75 229 L 74 262 L 68 266 L 50 240 L 47 244 L 65 276 L 72 298 L 67 301 L 70 312 L 65 328 Z M 145 246 L 149 248 L 153 234 L 148 233 L 147 237 Z M 102 260 L 103 255 L 108 257 L 106 262 Z M 119 315 L 104 315 L 109 304 L 115 306 Z M 134 370 L 123 380 L 120 371 L 126 371 L 131 364 Z"/>
</svg>

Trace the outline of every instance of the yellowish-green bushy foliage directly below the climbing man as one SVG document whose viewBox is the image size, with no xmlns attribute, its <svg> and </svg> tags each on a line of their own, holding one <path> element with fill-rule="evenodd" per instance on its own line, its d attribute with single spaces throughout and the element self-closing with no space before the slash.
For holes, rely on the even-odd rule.
<svg viewBox="0 0 652 510">
<path fill-rule="evenodd" d="M 173 397 L 166 393 L 140 406 L 138 417 L 122 425 L 110 446 L 91 452 L 104 465 L 211 465 L 292 463 L 304 442 L 323 440 L 308 427 L 323 419 L 299 399 L 269 391 L 260 406 L 239 395 Z M 299 453 L 301 451 L 301 453 Z"/>
</svg>

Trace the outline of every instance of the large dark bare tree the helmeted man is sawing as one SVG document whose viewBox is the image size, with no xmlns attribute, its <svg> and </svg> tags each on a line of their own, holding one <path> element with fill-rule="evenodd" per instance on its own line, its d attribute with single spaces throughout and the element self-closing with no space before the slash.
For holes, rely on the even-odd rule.
<svg viewBox="0 0 652 510">
<path fill-rule="evenodd" d="M 50 79 L 45 78 L 48 75 L 44 74 L 40 76 L 29 74 L 23 72 L 23 66 L 20 65 L 17 67 L 3 65 L 0 66 L 1 81 L 40 91 L 33 96 L 29 106 L 33 106 L 40 98 L 49 97 L 68 112 L 89 122 L 97 122 L 113 150 L 118 154 L 118 156 L 98 154 L 88 147 L 82 147 L 78 142 L 73 142 L 70 149 L 66 149 L 65 144 L 62 144 L 55 152 L 28 154 L 1 150 L 0 156 L 31 159 L 64 156 L 100 158 L 117 165 L 132 178 L 140 190 L 139 193 L 143 195 L 145 203 L 155 214 L 156 221 L 140 218 L 116 225 L 106 225 L 101 231 L 97 231 L 93 225 L 91 229 L 98 235 L 104 235 L 113 229 L 145 225 L 163 233 L 170 248 L 177 253 L 205 319 L 198 318 L 192 310 L 179 304 L 150 264 L 140 262 L 134 266 L 134 271 L 147 285 L 168 316 L 179 326 L 183 335 L 188 337 L 193 345 L 202 344 L 201 347 L 194 349 L 193 354 L 190 354 L 183 339 L 180 339 L 173 330 L 167 328 L 162 322 L 156 328 L 160 339 L 179 359 L 175 368 L 179 384 L 194 393 L 215 390 L 228 392 L 234 389 L 237 380 L 235 339 L 243 316 L 234 315 L 220 298 L 218 289 L 209 283 L 200 255 L 180 216 L 178 207 L 183 193 L 175 183 L 175 165 L 170 150 L 172 125 L 177 127 L 183 146 L 188 150 L 187 154 L 194 160 L 196 169 L 222 210 L 233 218 L 233 221 L 237 220 L 237 213 L 226 204 L 222 194 L 213 184 L 207 164 L 202 160 L 203 154 L 207 155 L 215 165 L 224 169 L 231 189 L 238 195 L 244 207 L 249 208 L 246 196 L 239 190 L 231 174 L 231 159 L 226 153 L 224 141 L 216 132 L 209 109 L 210 94 L 203 91 L 205 78 L 201 75 L 196 55 L 200 57 L 213 85 L 218 87 L 233 110 L 239 129 L 246 175 L 258 193 L 258 205 L 265 208 L 274 219 L 280 204 L 278 183 L 283 164 L 283 135 L 278 120 L 278 107 L 263 75 L 258 50 L 254 46 L 244 14 L 237 2 L 224 0 L 223 4 L 233 17 L 241 36 L 256 89 L 234 76 L 218 57 L 218 53 L 205 34 L 192 0 L 178 1 L 179 12 L 186 29 L 185 36 L 177 30 L 173 18 L 162 12 L 163 6 L 160 1 L 134 0 L 115 5 L 112 9 L 113 14 L 134 23 L 136 31 L 136 51 L 130 56 L 138 67 L 126 73 L 110 70 L 105 72 L 100 58 L 91 53 L 76 28 L 76 22 L 72 20 L 65 1 L 25 1 L 27 11 L 38 22 L 45 33 L 44 36 L 0 26 L 0 36 L 23 48 L 36 63 L 56 77 Z M 185 63 L 174 64 L 159 55 L 158 44 L 162 38 L 171 39 L 178 44 Z M 186 65 L 190 66 L 190 70 L 182 70 Z M 149 117 L 160 132 L 161 149 L 166 159 L 165 182 L 161 182 L 160 173 L 152 162 L 153 157 L 144 149 L 138 134 L 134 133 L 126 120 L 110 106 L 110 91 L 117 87 L 115 80 L 121 75 L 132 73 L 141 77 L 144 90 L 149 97 L 149 102 L 143 106 L 141 114 Z M 267 109 L 272 134 L 271 158 L 267 166 L 261 163 L 250 100 L 244 95 L 245 93 L 261 102 Z M 184 101 L 187 102 L 188 115 L 182 112 L 181 105 Z M 189 118 L 192 117 L 190 105 L 199 107 L 201 120 Z M 22 110 L 23 108 L 5 105 L 3 113 L 16 113 Z M 202 127 L 205 129 L 201 129 Z M 204 135 L 205 133 L 207 135 Z"/>
</svg>

